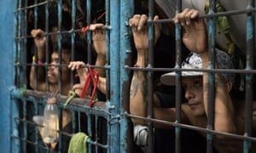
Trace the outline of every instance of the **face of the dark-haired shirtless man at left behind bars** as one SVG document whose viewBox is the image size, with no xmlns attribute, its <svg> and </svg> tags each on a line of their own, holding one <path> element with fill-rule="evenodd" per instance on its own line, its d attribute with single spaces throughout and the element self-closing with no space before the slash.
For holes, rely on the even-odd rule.
<svg viewBox="0 0 256 153">
<path fill-rule="evenodd" d="M 68 65 L 70 62 L 70 55 L 69 54 L 62 54 L 62 59 L 61 59 L 61 64 L 62 65 Z M 49 80 L 49 83 L 51 84 L 58 84 L 58 76 L 59 76 L 59 71 L 58 71 L 58 65 L 59 64 L 59 55 L 57 53 L 51 54 L 51 65 L 48 68 L 48 73 L 47 77 Z M 62 75 L 61 75 L 61 82 L 70 82 L 70 74 L 67 66 L 62 66 L 61 67 Z"/>
</svg>

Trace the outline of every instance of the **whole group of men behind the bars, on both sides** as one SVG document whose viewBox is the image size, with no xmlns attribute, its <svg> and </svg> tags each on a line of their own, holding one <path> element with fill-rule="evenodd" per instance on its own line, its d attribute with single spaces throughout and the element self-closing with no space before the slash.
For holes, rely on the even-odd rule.
<svg viewBox="0 0 256 153">
<path fill-rule="evenodd" d="M 207 37 L 207 26 L 203 19 L 198 17 L 202 13 L 193 8 L 185 8 L 182 12 L 175 15 L 174 23 L 177 26 L 182 27 L 182 53 L 183 62 L 181 68 L 184 71 L 178 73 L 178 71 L 154 72 L 154 95 L 153 95 L 153 116 L 152 118 L 159 119 L 166 122 L 176 122 L 176 103 L 175 103 L 175 86 L 176 77 L 178 74 L 181 76 L 181 85 L 183 91 L 182 104 L 181 104 L 181 123 L 207 128 L 209 112 L 207 109 L 210 86 L 209 73 L 206 70 L 209 64 L 209 46 Z M 65 19 L 63 19 L 65 20 Z M 131 85 L 130 85 L 130 110 L 129 113 L 134 116 L 148 117 L 148 78 L 147 71 L 140 70 L 139 68 L 147 68 L 148 66 L 148 15 L 147 14 L 134 14 L 129 20 L 129 26 L 132 31 L 132 40 L 134 43 L 135 59 L 133 65 L 136 65 L 137 70 L 132 71 Z M 154 16 L 154 20 L 160 20 L 158 15 Z M 103 24 L 97 23 L 90 25 L 90 31 L 92 31 L 92 48 L 96 52 L 96 58 L 94 65 L 104 66 L 106 65 L 106 40 L 105 29 Z M 163 32 L 163 27 L 160 23 L 154 24 L 154 66 L 173 68 L 175 66 L 176 58 L 176 45 L 175 36 L 166 36 Z M 58 31 L 55 27 L 54 31 Z M 173 29 L 172 29 L 172 33 Z M 30 86 L 31 88 L 39 91 L 47 91 L 47 82 L 44 78 L 44 73 L 47 73 L 47 80 L 49 82 L 49 92 L 55 93 L 58 90 L 58 85 L 61 83 L 61 94 L 67 95 L 70 90 L 76 92 L 78 96 L 81 95 L 81 91 L 84 87 L 85 78 L 88 75 L 88 67 L 86 67 L 87 54 L 83 54 L 84 59 L 74 59 L 71 56 L 71 44 L 70 39 L 63 39 L 61 44 L 61 57 L 58 54 L 58 47 L 56 46 L 57 37 L 50 37 L 52 45 L 52 51 L 50 52 L 50 65 L 45 71 L 43 64 L 46 61 L 46 37 L 45 33 L 41 29 L 33 29 L 31 35 L 34 38 L 34 44 L 37 51 L 37 64 L 38 76 L 37 85 L 35 85 L 35 66 L 32 66 L 30 74 Z M 55 36 L 55 35 L 52 35 Z M 76 44 L 75 52 L 79 51 L 81 46 Z M 236 69 L 230 54 L 216 48 L 215 49 L 215 68 L 216 69 Z M 81 55 L 77 55 L 81 56 Z M 59 64 L 67 65 L 61 66 L 61 80 L 59 80 Z M 95 69 L 99 74 L 99 82 L 97 88 L 101 94 L 107 94 L 106 90 L 106 74 L 103 68 Z M 188 71 L 189 70 L 189 71 Z M 194 71 L 193 71 L 194 70 Z M 78 82 L 71 84 L 71 71 L 75 74 L 75 78 L 78 78 Z M 233 133 L 244 134 L 245 125 L 245 100 L 244 98 L 237 99 L 236 89 L 233 88 L 235 79 L 235 73 L 228 72 L 214 72 L 214 124 L 213 129 L 220 133 Z M 111 83 L 111 81 L 110 81 Z M 256 102 L 253 101 L 252 108 L 256 108 Z M 72 117 L 69 111 L 63 111 L 63 117 L 66 117 L 63 122 L 63 127 L 66 127 L 69 122 L 72 121 Z M 253 116 L 253 114 L 252 114 Z M 255 119 L 253 118 L 253 122 Z M 63 119 L 64 121 L 64 119 Z M 147 129 L 147 121 L 141 118 L 132 117 L 134 127 L 142 126 Z M 155 152 L 172 152 L 175 147 L 175 134 L 174 127 L 159 122 L 154 122 L 154 134 L 155 137 Z M 138 129 L 137 129 L 138 130 Z M 253 127 L 253 131 L 255 127 Z M 164 132 L 163 132 L 164 131 Z M 144 131 L 145 132 L 145 131 Z M 147 132 L 147 130 L 146 130 Z M 137 134 L 138 133 L 138 134 Z M 160 134 L 161 133 L 161 134 Z M 183 152 L 206 152 L 207 133 L 197 132 L 194 130 L 183 129 L 182 133 L 182 146 Z M 146 135 L 140 135 L 140 131 L 137 131 L 135 137 L 140 140 L 136 140 L 135 144 L 147 145 L 147 133 Z M 139 138 L 143 137 L 143 138 Z M 172 138 L 170 138 L 172 137 Z M 193 137 L 193 138 L 191 138 Z M 141 140 L 143 139 L 143 140 Z M 170 143 L 166 141 L 170 140 Z M 193 140 L 195 139 L 195 140 Z M 143 141 L 143 143 L 141 143 Z M 191 142 L 193 141 L 193 142 Z M 253 142 L 252 142 L 253 143 Z M 251 145 L 252 151 L 255 150 L 255 144 Z M 213 149 L 216 152 L 242 152 L 243 141 L 241 139 L 230 138 L 224 134 L 213 135 Z M 142 150 L 140 150 L 142 151 Z"/>
</svg>

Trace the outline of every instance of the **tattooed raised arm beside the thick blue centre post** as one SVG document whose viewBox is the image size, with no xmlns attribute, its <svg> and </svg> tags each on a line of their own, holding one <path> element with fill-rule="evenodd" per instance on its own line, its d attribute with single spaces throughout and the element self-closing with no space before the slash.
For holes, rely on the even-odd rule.
<svg viewBox="0 0 256 153">
<path fill-rule="evenodd" d="M 148 17 L 146 15 L 136 14 L 129 20 L 132 28 L 135 46 L 137 48 L 137 67 L 146 67 L 148 65 L 148 26 L 146 22 Z M 155 16 L 154 20 L 158 20 Z M 156 42 L 160 37 L 160 26 L 154 26 L 154 41 Z M 148 87 L 147 87 L 146 71 L 134 71 L 131 78 L 130 88 L 130 112 L 132 115 L 147 116 L 148 105 Z M 154 94 L 154 118 L 165 121 L 174 121 L 175 111 L 173 109 L 161 108 L 160 99 Z M 157 104 L 157 105 L 155 105 Z M 137 124 L 145 124 L 143 120 L 136 118 L 131 119 Z M 162 125 L 154 124 L 155 127 L 162 127 Z"/>
</svg>

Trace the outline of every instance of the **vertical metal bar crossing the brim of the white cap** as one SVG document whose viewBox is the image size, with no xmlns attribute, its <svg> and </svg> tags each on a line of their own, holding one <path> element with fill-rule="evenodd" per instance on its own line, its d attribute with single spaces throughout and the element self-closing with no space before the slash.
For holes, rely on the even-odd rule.
<svg viewBox="0 0 256 153">
<path fill-rule="evenodd" d="M 180 13 L 182 10 L 182 1 L 177 0 L 176 1 L 176 14 Z M 176 41 L 176 64 L 175 67 L 180 68 L 181 67 L 181 57 L 182 57 L 182 49 L 181 49 L 181 26 L 176 25 L 175 26 L 175 41 Z M 176 72 L 176 122 L 181 122 L 181 72 Z M 180 133 L 181 129 L 180 127 L 175 127 L 175 152 L 180 152 Z"/>
</svg>

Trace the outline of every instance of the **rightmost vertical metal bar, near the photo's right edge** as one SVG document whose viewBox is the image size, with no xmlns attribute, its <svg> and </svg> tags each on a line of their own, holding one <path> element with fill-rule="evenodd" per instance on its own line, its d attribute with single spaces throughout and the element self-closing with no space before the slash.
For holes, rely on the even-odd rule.
<svg viewBox="0 0 256 153">
<path fill-rule="evenodd" d="M 255 1 L 249 0 L 247 9 L 255 7 Z M 246 70 L 253 69 L 253 51 L 254 51 L 254 26 L 255 15 L 253 13 L 247 14 L 247 56 L 246 56 Z M 245 133 L 244 136 L 252 136 L 253 132 L 253 74 L 246 74 L 246 103 L 245 103 Z M 251 142 L 244 140 L 243 151 L 250 152 Z"/>
</svg>

